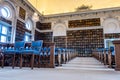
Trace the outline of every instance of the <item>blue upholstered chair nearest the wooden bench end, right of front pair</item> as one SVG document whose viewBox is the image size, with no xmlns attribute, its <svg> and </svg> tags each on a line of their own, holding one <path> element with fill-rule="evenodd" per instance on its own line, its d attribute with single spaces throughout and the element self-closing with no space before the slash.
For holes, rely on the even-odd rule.
<svg viewBox="0 0 120 80">
<path fill-rule="evenodd" d="M 20 68 L 22 67 L 22 55 L 25 54 L 25 55 L 32 55 L 31 69 L 33 69 L 34 55 L 38 55 L 40 57 L 42 45 L 43 45 L 43 40 L 32 41 L 30 48 L 25 48 L 24 50 L 21 51 Z M 38 59 L 38 62 L 40 63 L 40 59 Z"/>
</svg>

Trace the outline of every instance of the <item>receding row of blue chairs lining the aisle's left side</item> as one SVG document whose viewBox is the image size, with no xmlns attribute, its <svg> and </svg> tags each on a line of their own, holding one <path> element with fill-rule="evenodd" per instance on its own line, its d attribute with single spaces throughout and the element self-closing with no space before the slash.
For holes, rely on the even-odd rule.
<svg viewBox="0 0 120 80">
<path fill-rule="evenodd" d="M 77 52 L 73 49 L 55 48 L 55 65 L 61 66 L 76 56 Z"/>
</svg>

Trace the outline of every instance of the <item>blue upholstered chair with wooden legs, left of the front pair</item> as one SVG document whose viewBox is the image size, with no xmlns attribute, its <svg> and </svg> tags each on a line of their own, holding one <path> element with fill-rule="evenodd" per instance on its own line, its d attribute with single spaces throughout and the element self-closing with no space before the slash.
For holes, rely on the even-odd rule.
<svg viewBox="0 0 120 80">
<path fill-rule="evenodd" d="M 12 68 L 14 68 L 15 55 L 21 53 L 22 49 L 24 49 L 24 45 L 25 45 L 24 41 L 18 41 L 15 42 L 14 45 L 8 44 L 8 46 L 4 49 L 3 51 L 4 55 L 13 55 Z M 2 64 L 4 64 L 4 62 Z"/>
</svg>

